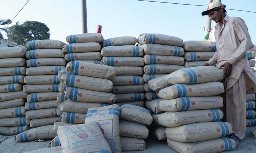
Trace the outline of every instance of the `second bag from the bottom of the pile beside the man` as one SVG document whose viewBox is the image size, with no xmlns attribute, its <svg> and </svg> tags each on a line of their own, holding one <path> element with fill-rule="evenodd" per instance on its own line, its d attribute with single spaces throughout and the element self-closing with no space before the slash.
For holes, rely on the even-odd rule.
<svg viewBox="0 0 256 153">
<path fill-rule="evenodd" d="M 202 122 L 166 128 L 168 139 L 178 142 L 199 142 L 227 136 L 232 127 L 228 122 Z"/>
</svg>

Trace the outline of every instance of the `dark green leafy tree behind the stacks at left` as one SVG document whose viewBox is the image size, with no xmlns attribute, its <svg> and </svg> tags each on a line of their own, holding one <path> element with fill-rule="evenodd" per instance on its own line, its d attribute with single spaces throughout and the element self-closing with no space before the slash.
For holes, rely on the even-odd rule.
<svg viewBox="0 0 256 153">
<path fill-rule="evenodd" d="M 23 24 L 16 23 L 7 29 L 8 40 L 19 45 L 24 45 L 31 40 L 43 40 L 50 38 L 50 29 L 44 23 L 38 21 L 26 21 Z"/>
</svg>

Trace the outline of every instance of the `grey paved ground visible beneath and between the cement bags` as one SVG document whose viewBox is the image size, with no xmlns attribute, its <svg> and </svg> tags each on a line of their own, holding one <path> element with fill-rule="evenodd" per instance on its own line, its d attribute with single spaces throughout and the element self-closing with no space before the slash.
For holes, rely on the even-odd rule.
<svg viewBox="0 0 256 153">
<path fill-rule="evenodd" d="M 254 127 L 246 128 L 246 137 L 240 142 L 235 150 L 226 151 L 227 153 L 255 153 L 255 139 L 249 137 L 250 130 Z M 14 136 L 0 135 L 0 153 L 23 153 L 29 150 L 47 148 L 50 140 L 45 142 L 15 142 Z M 125 153 L 176 153 L 167 146 L 167 141 L 158 141 L 154 138 L 146 140 L 146 150 L 144 151 L 126 151 Z"/>
</svg>

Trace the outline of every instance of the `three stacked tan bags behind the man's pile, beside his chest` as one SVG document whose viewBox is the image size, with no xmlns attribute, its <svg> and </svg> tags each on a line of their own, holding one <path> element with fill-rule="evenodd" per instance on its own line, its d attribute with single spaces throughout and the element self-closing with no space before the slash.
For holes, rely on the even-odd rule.
<svg viewBox="0 0 256 153">
<path fill-rule="evenodd" d="M 213 41 L 184 41 L 185 68 L 204 65 L 216 51 Z"/>
</svg>

